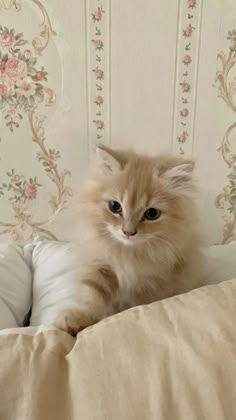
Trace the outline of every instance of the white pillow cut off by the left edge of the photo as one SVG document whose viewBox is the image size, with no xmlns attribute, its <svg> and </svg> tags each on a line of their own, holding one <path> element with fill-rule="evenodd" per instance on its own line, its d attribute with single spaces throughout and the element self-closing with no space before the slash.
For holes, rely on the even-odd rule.
<svg viewBox="0 0 236 420">
<path fill-rule="evenodd" d="M 0 243 L 0 329 L 23 325 L 31 292 L 32 272 L 23 248 Z"/>
</svg>

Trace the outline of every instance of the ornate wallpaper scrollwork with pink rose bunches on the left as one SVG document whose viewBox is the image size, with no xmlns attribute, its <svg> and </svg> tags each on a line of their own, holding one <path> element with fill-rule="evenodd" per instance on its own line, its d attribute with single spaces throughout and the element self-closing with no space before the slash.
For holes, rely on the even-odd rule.
<svg viewBox="0 0 236 420">
<path fill-rule="evenodd" d="M 40 0 L 28 0 L 41 12 L 39 35 L 30 41 L 24 33 L 14 28 L 0 25 L 0 113 L 2 121 L 15 135 L 23 119 L 27 119 L 32 141 L 37 146 L 36 160 L 54 186 L 50 192 L 50 215 L 45 220 L 36 221 L 33 215 L 33 202 L 38 200 L 39 190 L 44 187 L 37 176 L 26 177 L 19 168 L 9 168 L 5 180 L 0 185 L 0 200 L 7 200 L 14 214 L 14 221 L 0 221 L 0 235 L 10 235 L 14 240 L 28 240 L 43 234 L 49 238 L 55 235 L 48 225 L 67 207 L 72 195 L 66 179 L 68 170 L 61 170 L 58 161 L 60 151 L 47 145 L 45 132 L 46 116 L 39 114 L 38 107 L 53 106 L 56 93 L 48 86 L 48 72 L 39 65 L 48 47 L 50 37 L 56 35 L 49 14 Z M 26 4 L 24 4 L 26 6 Z M 20 0 L 0 0 L 0 10 L 14 8 L 23 13 Z M 2 139 L 1 147 L 4 147 Z"/>
</svg>

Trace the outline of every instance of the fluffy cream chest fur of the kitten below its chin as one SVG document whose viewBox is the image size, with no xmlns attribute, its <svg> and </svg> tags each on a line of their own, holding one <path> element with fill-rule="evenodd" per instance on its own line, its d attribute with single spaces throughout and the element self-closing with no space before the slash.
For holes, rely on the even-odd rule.
<svg viewBox="0 0 236 420">
<path fill-rule="evenodd" d="M 115 274 L 119 285 L 116 302 L 121 310 L 165 299 L 197 285 L 194 261 L 189 259 L 178 265 L 173 255 L 168 254 L 167 258 L 163 254 L 161 247 L 152 249 L 152 258 L 144 247 L 113 247 L 107 243 L 96 244 L 96 249 L 83 247 L 83 251 L 89 265 L 108 267 Z"/>
</svg>

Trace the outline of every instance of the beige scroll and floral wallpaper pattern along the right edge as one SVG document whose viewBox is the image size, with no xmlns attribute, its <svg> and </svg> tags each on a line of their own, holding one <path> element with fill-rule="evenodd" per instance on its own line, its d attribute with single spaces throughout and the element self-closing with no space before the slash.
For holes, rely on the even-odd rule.
<svg viewBox="0 0 236 420">
<path fill-rule="evenodd" d="M 218 56 L 219 70 L 216 72 L 216 87 L 218 96 L 233 112 L 234 121 L 227 127 L 218 151 L 228 168 L 227 184 L 223 191 L 216 197 L 216 208 L 223 209 L 223 240 L 225 243 L 232 239 L 236 226 L 236 154 L 232 148 L 232 134 L 236 133 L 236 30 L 228 32 L 230 42 L 228 51 L 221 51 Z M 234 72 L 233 72 L 234 70 Z"/>
</svg>

